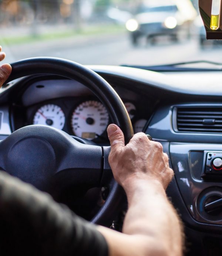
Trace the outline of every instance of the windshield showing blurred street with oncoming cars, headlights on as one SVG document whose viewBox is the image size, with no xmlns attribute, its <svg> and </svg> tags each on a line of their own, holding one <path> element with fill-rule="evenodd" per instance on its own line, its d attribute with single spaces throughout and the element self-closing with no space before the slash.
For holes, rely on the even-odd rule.
<svg viewBox="0 0 222 256">
<path fill-rule="evenodd" d="M 51 56 L 86 65 L 221 62 L 198 0 L 0 0 L 5 62 Z"/>
</svg>

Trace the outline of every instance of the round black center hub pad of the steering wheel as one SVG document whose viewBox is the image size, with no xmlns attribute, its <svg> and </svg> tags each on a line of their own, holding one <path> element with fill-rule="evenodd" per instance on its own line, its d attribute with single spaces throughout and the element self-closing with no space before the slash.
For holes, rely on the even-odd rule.
<svg viewBox="0 0 222 256">
<path fill-rule="evenodd" d="M 44 138 L 27 137 L 11 147 L 6 168 L 11 175 L 47 191 L 55 170 L 55 152 Z"/>
</svg>

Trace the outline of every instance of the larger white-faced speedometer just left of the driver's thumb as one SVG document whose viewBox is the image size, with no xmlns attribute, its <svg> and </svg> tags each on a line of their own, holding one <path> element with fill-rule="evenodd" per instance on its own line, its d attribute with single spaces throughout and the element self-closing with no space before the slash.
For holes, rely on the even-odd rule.
<svg viewBox="0 0 222 256">
<path fill-rule="evenodd" d="M 93 140 L 107 128 L 109 115 L 101 102 L 85 101 L 74 110 L 71 118 L 73 133 L 88 140 Z"/>
</svg>

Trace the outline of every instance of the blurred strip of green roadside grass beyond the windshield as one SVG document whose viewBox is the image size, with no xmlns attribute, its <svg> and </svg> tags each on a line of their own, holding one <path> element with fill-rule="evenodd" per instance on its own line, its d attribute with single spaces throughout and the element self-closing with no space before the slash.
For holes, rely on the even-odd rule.
<svg viewBox="0 0 222 256">
<path fill-rule="evenodd" d="M 81 30 L 77 31 L 69 28 L 66 30 L 58 30 L 47 33 L 40 33 L 37 35 L 30 34 L 24 36 L 6 36 L 1 37 L 1 40 L 7 45 L 23 44 L 37 41 L 46 41 L 46 40 L 56 40 L 61 38 L 68 37 L 78 37 L 78 36 L 90 36 L 90 35 L 105 35 L 112 33 L 121 33 L 125 31 L 124 25 L 120 24 L 105 24 L 100 26 L 87 26 L 83 27 Z"/>
</svg>

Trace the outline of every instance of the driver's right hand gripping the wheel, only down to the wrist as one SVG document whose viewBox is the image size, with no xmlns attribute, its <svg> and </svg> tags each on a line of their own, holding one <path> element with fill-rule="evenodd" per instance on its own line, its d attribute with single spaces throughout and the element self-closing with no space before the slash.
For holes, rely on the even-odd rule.
<svg viewBox="0 0 222 256">
<path fill-rule="evenodd" d="M 159 181 L 166 189 L 174 172 L 159 142 L 150 141 L 139 132 L 125 146 L 124 134 L 117 125 L 110 125 L 107 132 L 111 144 L 109 163 L 115 180 L 122 187 L 129 179 L 149 179 Z"/>
</svg>

